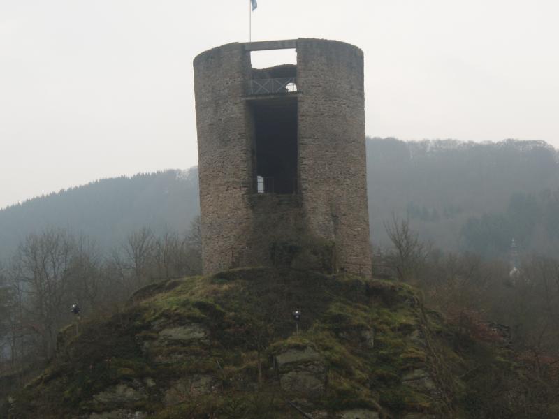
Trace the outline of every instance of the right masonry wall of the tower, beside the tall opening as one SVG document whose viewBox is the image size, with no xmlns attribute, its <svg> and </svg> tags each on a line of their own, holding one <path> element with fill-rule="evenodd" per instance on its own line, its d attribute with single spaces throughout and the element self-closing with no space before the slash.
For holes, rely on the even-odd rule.
<svg viewBox="0 0 559 419">
<path fill-rule="evenodd" d="M 335 242 L 337 269 L 370 274 L 363 52 L 297 43 L 300 191 L 310 230 Z"/>
</svg>

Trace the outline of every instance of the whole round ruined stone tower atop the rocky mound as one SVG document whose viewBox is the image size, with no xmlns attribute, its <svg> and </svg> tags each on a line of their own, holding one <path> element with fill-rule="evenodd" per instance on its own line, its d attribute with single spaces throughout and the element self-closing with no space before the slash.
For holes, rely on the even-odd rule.
<svg viewBox="0 0 559 419">
<path fill-rule="evenodd" d="M 255 69 L 250 53 L 295 48 Z M 194 59 L 203 270 L 370 275 L 363 52 L 338 41 L 230 43 Z"/>
</svg>

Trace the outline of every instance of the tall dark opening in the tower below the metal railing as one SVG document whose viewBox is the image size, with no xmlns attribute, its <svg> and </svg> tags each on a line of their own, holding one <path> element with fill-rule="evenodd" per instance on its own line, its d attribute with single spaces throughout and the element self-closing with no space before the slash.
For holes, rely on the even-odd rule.
<svg viewBox="0 0 559 419">
<path fill-rule="evenodd" d="M 251 101 L 254 190 L 297 193 L 297 98 Z"/>
</svg>

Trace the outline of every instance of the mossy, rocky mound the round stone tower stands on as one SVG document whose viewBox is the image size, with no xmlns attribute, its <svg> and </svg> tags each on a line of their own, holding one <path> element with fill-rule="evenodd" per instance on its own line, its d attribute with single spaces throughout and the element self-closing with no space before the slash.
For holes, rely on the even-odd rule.
<svg viewBox="0 0 559 419">
<path fill-rule="evenodd" d="M 447 332 L 392 281 L 264 268 L 164 281 L 61 331 L 8 417 L 463 417 L 470 366 Z"/>
</svg>

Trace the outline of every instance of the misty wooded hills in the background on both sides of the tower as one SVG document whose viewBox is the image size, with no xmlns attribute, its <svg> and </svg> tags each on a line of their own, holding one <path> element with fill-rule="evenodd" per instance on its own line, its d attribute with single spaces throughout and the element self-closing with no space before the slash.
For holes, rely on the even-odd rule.
<svg viewBox="0 0 559 419">
<path fill-rule="evenodd" d="M 506 256 L 514 237 L 521 253 L 559 251 L 559 154 L 546 142 L 368 138 L 367 161 L 375 245 L 394 213 L 442 249 Z M 0 210 L 0 259 L 50 226 L 110 248 L 143 226 L 182 232 L 198 212 L 197 168 L 103 179 Z"/>
</svg>

